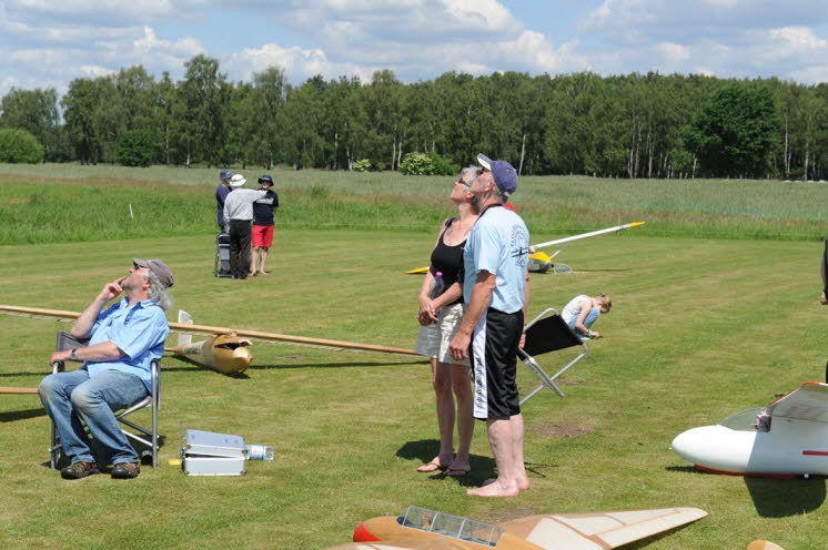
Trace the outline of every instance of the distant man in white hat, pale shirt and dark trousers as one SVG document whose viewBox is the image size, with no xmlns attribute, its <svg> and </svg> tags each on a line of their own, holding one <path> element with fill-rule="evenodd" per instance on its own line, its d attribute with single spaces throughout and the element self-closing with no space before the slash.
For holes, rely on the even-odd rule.
<svg viewBox="0 0 828 550">
<path fill-rule="evenodd" d="M 242 174 L 230 179 L 233 192 L 224 202 L 224 220 L 230 224 L 230 273 L 233 278 L 248 278 L 250 272 L 250 221 L 253 203 L 264 198 L 266 190 L 241 189 L 246 180 Z"/>
</svg>

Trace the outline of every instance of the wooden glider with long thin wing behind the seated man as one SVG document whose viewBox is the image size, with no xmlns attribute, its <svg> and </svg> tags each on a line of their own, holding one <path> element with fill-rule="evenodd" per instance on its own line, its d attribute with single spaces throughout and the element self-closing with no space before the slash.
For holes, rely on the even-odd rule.
<svg viewBox="0 0 828 550">
<path fill-rule="evenodd" d="M 75 312 L 10 305 L 0 305 L 0 313 L 57 320 L 74 320 L 79 315 Z M 249 338 L 267 342 L 282 342 L 297 346 L 326 347 L 349 352 L 370 352 L 391 355 L 413 355 L 421 357 L 413 349 L 375 346 L 372 344 L 355 344 L 352 342 L 329 340 L 323 338 L 310 338 L 306 336 L 290 336 L 286 334 L 265 333 L 261 330 L 193 325 L 192 318 L 186 312 L 179 312 L 179 323 L 170 323 L 169 325 L 172 330 L 184 333 L 184 336 L 179 338 L 178 346 L 165 348 L 166 352 L 185 357 L 199 365 L 213 368 L 223 374 L 241 373 L 250 366 L 253 356 L 250 353 L 251 340 Z M 205 340 L 193 343 L 190 336 L 191 334 L 205 334 L 210 337 Z M 0 387 L 0 394 L 37 394 L 37 388 Z"/>
</svg>

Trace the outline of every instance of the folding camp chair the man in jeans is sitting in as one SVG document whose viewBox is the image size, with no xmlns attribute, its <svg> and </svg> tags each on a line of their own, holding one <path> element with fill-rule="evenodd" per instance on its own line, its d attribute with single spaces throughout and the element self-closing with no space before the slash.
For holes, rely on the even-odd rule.
<svg viewBox="0 0 828 550">
<path fill-rule="evenodd" d="M 88 342 L 89 339 L 77 339 L 72 335 L 64 333 L 63 330 L 59 330 L 55 349 L 58 352 L 64 352 L 67 349 L 72 349 L 75 347 L 83 347 L 88 344 Z M 52 374 L 63 373 L 64 370 L 65 365 L 63 364 L 63 361 L 55 361 L 54 364 L 52 364 Z M 139 441 L 150 448 L 152 452 L 152 467 L 158 468 L 158 414 L 159 410 L 161 410 L 161 377 L 159 375 L 158 359 L 153 359 L 150 364 L 150 373 L 152 394 L 133 404 L 132 406 L 121 410 L 120 412 L 117 412 L 115 418 L 119 422 L 129 426 L 135 431 L 132 432 L 121 428 L 121 431 L 123 431 L 123 435 L 127 436 L 128 439 Z M 131 415 L 132 412 L 141 410 L 145 407 L 152 407 L 151 429 L 139 426 L 138 424 L 127 418 L 128 415 Z M 145 438 L 149 438 L 149 440 Z M 62 448 L 60 446 L 60 435 L 58 434 L 58 428 L 54 427 L 54 422 L 52 422 L 52 445 L 51 447 L 49 447 L 50 465 L 52 469 L 58 469 L 58 461 L 60 460 L 61 451 Z"/>
</svg>

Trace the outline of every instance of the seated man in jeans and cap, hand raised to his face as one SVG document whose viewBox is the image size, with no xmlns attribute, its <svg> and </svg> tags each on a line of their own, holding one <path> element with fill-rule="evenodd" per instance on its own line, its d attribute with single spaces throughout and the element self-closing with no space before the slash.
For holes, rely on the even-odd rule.
<svg viewBox="0 0 828 550">
<path fill-rule="evenodd" d="M 77 370 L 49 375 L 38 393 L 60 435 L 71 465 L 60 475 L 80 479 L 100 471 L 92 456 L 87 425 L 97 447 L 111 460 L 113 478 L 140 473 L 135 450 L 121 431 L 113 411 L 150 395 L 150 363 L 164 353 L 170 333 L 164 309 L 170 305 L 170 268 L 160 259 L 133 258 L 129 275 L 107 283 L 72 325 L 74 338 L 90 338 L 87 347 L 55 352 L 55 361 L 83 361 Z M 123 298 L 109 308 L 107 303 Z"/>
</svg>

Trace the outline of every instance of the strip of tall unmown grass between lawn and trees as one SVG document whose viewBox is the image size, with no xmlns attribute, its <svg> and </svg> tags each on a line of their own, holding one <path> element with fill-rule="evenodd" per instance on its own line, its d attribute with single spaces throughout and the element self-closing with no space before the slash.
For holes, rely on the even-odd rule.
<svg viewBox="0 0 828 550">
<path fill-rule="evenodd" d="M 261 171 L 243 173 L 254 180 Z M 273 175 L 284 228 L 433 232 L 452 215 L 451 177 Z M 212 169 L 3 164 L 0 245 L 209 234 L 216 179 Z M 533 233 L 567 235 L 645 221 L 637 234 L 817 241 L 825 233 L 828 184 L 522 177 L 514 203 Z"/>
</svg>

